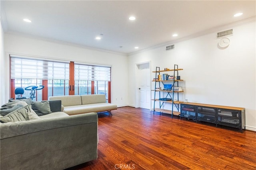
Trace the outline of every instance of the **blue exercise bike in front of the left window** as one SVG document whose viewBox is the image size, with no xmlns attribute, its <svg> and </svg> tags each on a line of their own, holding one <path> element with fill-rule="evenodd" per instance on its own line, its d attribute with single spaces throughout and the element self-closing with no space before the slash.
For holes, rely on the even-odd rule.
<svg viewBox="0 0 256 170">
<path fill-rule="evenodd" d="M 30 90 L 30 99 L 33 100 L 36 96 L 36 90 L 42 90 L 44 88 L 44 86 L 40 85 L 39 87 L 38 86 L 27 86 L 25 89 L 24 88 L 16 88 L 15 89 L 15 94 L 18 94 L 18 97 L 16 99 L 28 99 L 28 97 L 21 97 L 22 94 L 24 94 L 24 90 Z"/>
</svg>

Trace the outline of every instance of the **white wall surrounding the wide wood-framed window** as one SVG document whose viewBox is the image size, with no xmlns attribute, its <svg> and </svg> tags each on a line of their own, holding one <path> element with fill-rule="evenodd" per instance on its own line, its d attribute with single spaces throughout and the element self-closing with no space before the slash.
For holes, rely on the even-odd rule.
<svg viewBox="0 0 256 170">
<path fill-rule="evenodd" d="M 5 51 L 7 53 L 6 70 L 9 70 L 8 54 L 20 54 L 49 59 L 112 65 L 112 103 L 117 104 L 118 106 L 128 104 L 128 58 L 126 55 L 105 51 L 96 51 L 75 45 L 66 45 L 64 43 L 57 43 L 8 33 L 5 34 Z M 6 74 L 6 86 L 10 87 L 10 73 L 6 72 Z M 8 100 L 8 98 L 10 98 L 10 89 L 7 88 L 6 91 L 6 100 Z"/>
</svg>

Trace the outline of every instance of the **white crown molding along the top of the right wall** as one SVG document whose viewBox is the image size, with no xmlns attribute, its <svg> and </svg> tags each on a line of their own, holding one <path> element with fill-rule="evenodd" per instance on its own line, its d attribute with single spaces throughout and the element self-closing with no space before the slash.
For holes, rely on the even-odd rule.
<svg viewBox="0 0 256 170">
<path fill-rule="evenodd" d="M 245 25 L 245 24 L 252 23 L 252 22 L 255 22 L 255 21 L 256 21 L 256 16 L 253 16 L 253 17 L 250 17 L 250 18 L 246 18 L 244 20 L 240 20 L 240 21 L 236 21 L 236 22 L 233 22 L 233 23 L 221 25 L 221 26 L 218 26 L 218 27 L 213 27 L 211 29 L 200 31 L 200 32 L 194 33 L 192 35 L 188 35 L 186 37 L 182 37 L 182 38 L 179 38 L 179 39 L 176 39 L 176 40 L 173 40 L 173 41 L 167 41 L 167 42 L 160 43 L 160 44 L 157 44 L 157 45 L 145 48 L 145 49 L 141 49 L 139 51 L 128 53 L 128 56 L 134 55 L 134 54 L 137 54 L 137 53 L 142 53 L 144 51 L 156 49 L 156 48 L 159 48 L 159 47 L 165 47 L 165 46 L 168 46 L 170 44 L 178 43 L 178 42 L 181 42 L 181 41 L 186 41 L 188 39 L 200 37 L 202 35 L 206 35 L 206 34 L 209 34 L 209 33 L 219 32 L 219 31 L 222 31 L 224 29 L 229 29 L 229 28 L 232 28 L 232 27 L 238 27 L 240 25 Z"/>
</svg>

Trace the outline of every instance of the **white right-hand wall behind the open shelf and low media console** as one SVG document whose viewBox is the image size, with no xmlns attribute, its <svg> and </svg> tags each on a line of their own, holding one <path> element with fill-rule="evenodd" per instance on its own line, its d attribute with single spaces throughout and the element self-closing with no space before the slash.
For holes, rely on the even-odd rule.
<svg viewBox="0 0 256 170">
<path fill-rule="evenodd" d="M 184 88 L 180 100 L 246 108 L 246 129 L 256 131 L 256 34 L 255 21 L 232 27 L 226 49 L 218 47 L 216 32 L 175 43 L 175 49 L 158 47 L 128 58 L 129 102 L 135 105 L 136 63 L 151 61 L 152 71 L 178 64 Z M 222 31 L 222 30 L 221 30 Z M 169 44 L 172 45 L 172 44 Z M 152 73 L 152 79 L 154 74 Z M 152 88 L 154 83 L 152 82 Z"/>
</svg>

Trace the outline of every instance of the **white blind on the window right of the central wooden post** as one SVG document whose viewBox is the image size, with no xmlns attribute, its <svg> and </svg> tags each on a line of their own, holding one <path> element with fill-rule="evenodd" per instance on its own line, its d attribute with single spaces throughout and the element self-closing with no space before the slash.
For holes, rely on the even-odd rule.
<svg viewBox="0 0 256 170">
<path fill-rule="evenodd" d="M 111 68 L 74 64 L 75 80 L 111 81 Z"/>
</svg>

